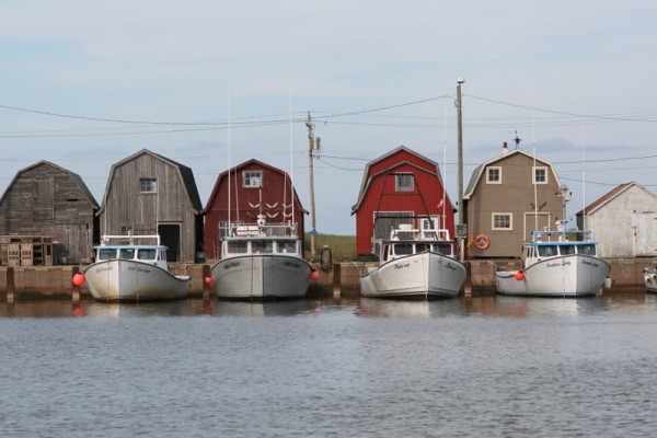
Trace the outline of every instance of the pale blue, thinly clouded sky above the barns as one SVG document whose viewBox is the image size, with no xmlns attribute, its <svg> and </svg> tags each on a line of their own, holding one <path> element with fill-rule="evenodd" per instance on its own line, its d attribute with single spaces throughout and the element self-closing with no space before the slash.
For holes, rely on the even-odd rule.
<svg viewBox="0 0 657 438">
<path fill-rule="evenodd" d="M 316 230 L 355 234 L 366 164 L 407 148 L 463 174 L 508 142 L 550 161 L 567 217 L 619 184 L 657 193 L 657 3 L 0 0 L 0 194 L 47 160 L 102 204 L 142 150 L 192 169 L 203 205 L 252 158 L 290 173 Z M 307 229 L 309 227 L 307 218 Z"/>
</svg>

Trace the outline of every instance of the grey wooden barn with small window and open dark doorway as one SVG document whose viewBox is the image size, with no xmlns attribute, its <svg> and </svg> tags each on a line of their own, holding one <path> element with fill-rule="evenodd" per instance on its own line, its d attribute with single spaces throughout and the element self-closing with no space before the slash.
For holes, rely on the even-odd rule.
<svg viewBox="0 0 657 438">
<path fill-rule="evenodd" d="M 97 212 L 102 234 L 160 234 L 169 262 L 203 251 L 200 197 L 192 169 L 147 149 L 112 166 Z"/>
</svg>

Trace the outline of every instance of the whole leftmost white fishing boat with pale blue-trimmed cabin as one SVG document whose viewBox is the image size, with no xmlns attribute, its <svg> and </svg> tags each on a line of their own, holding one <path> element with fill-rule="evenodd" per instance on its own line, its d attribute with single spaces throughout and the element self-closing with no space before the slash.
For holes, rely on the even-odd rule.
<svg viewBox="0 0 657 438">
<path fill-rule="evenodd" d="M 103 301 L 173 300 L 187 297 L 189 276 L 173 275 L 160 235 L 103 235 L 95 262 L 82 274 Z M 76 278 L 73 279 L 76 281 Z"/>
</svg>

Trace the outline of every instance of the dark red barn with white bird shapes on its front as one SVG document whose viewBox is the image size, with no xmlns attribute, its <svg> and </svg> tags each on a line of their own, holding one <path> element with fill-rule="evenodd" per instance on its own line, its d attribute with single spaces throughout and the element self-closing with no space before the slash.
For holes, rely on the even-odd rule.
<svg viewBox="0 0 657 438">
<path fill-rule="evenodd" d="M 306 212 L 287 172 L 254 159 L 239 164 L 219 175 L 201 211 L 206 260 L 221 257 L 221 238 L 229 223 L 255 223 L 262 214 L 267 223 L 296 223 L 303 239 Z"/>
</svg>

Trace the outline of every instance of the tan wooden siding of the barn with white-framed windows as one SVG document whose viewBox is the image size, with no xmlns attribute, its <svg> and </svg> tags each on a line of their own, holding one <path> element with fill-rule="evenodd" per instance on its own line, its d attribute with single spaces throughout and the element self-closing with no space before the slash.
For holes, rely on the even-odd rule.
<svg viewBox="0 0 657 438">
<path fill-rule="evenodd" d="M 530 239 L 538 228 L 554 228 L 554 222 L 563 219 L 563 197 L 558 196 L 558 180 L 553 172 L 548 174 L 548 184 L 537 185 L 534 211 L 533 159 L 526 154 L 514 153 L 489 163 L 483 169 L 483 176 L 474 187 L 466 204 L 468 241 L 484 233 L 491 238 L 491 245 L 483 251 L 468 245 L 470 257 L 520 257 L 522 242 Z M 486 183 L 488 166 L 502 168 L 502 183 Z M 548 166 L 542 161 L 537 166 Z M 494 214 L 510 214 L 510 230 L 493 230 Z M 534 220 L 537 218 L 538 220 Z"/>
</svg>

